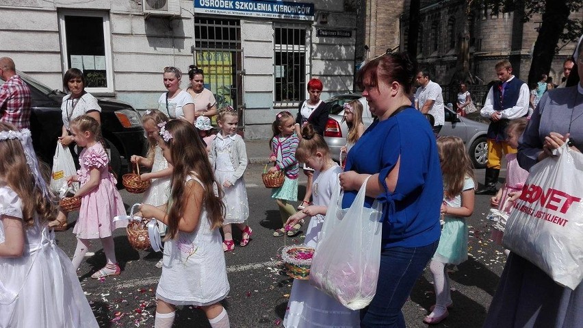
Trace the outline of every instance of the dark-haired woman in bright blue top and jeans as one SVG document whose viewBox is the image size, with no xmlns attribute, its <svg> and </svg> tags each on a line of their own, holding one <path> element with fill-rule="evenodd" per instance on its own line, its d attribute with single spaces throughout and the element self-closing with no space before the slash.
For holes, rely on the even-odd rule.
<svg viewBox="0 0 583 328">
<path fill-rule="evenodd" d="M 350 207 L 365 178 L 365 206 L 384 203 L 383 241 L 376 295 L 361 310 L 361 327 L 405 327 L 401 312 L 439 242 L 443 182 L 435 136 L 411 105 L 417 68 L 406 53 L 387 53 L 359 72 L 378 121 L 354 144 L 340 175 L 343 207 Z"/>
</svg>

